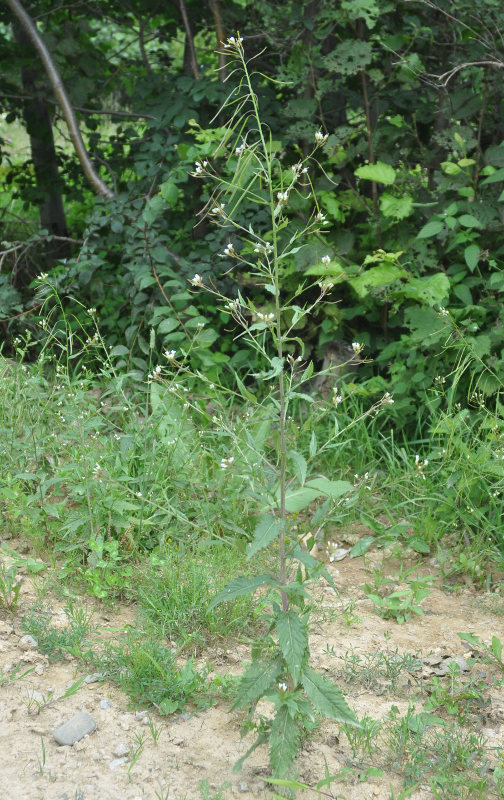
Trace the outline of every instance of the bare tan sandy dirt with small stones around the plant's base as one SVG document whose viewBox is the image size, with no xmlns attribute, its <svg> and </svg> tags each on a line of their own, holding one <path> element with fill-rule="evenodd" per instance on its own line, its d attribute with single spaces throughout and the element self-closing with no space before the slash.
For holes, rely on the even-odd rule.
<svg viewBox="0 0 504 800">
<path fill-rule="evenodd" d="M 368 566 L 372 560 L 368 558 Z M 352 648 L 358 654 L 398 648 L 401 653 L 421 651 L 422 655 L 433 652 L 453 657 L 467 656 L 457 632 L 470 631 L 487 640 L 495 635 L 504 640 L 502 603 L 501 613 L 494 613 L 495 601 L 492 605 L 489 595 L 477 593 L 471 586 L 445 592 L 439 581 L 439 588 L 433 588 L 422 603 L 425 616 L 403 625 L 381 619 L 360 588 L 369 581 L 365 566 L 362 558 L 329 563 L 341 595 L 327 586 L 316 590 L 320 619 L 310 641 L 311 665 L 322 673 L 334 670 L 338 666 L 337 655 Z M 224 702 L 193 715 L 161 717 L 149 710 L 160 731 L 157 743 L 147 715 L 132 709 L 128 697 L 107 683 L 84 683 L 72 696 L 38 711 L 40 703 L 33 702 L 33 698 L 40 701 L 50 692 L 59 697 L 86 672 L 71 658 L 66 663 L 50 662 L 35 648 L 22 649 L 26 645 L 20 644 L 25 633 L 21 620 L 34 602 L 35 590 L 32 579 L 26 577 L 18 611 L 14 616 L 0 611 L 0 800 L 198 800 L 202 796 L 202 780 L 208 783 L 208 798 L 214 798 L 219 791 L 223 800 L 269 796 L 266 784 L 260 780 L 269 774 L 264 747 L 253 753 L 240 773 L 232 773 L 233 764 L 252 739 L 240 739 L 240 719 L 229 713 Z M 355 601 L 352 613 L 358 619 L 351 625 L 341 615 L 342 598 L 347 607 Z M 51 623 L 63 626 L 67 621 L 63 602 L 45 596 L 44 603 L 53 613 Z M 84 598 L 83 604 L 92 606 L 89 598 Z M 95 604 L 93 608 L 94 623 L 105 635 L 116 636 L 126 624 L 134 624 L 135 610 L 131 607 L 111 611 Z M 229 644 L 214 658 L 216 671 L 236 673 L 249 658 L 249 651 Z M 18 664 L 20 672 L 34 669 L 23 680 L 6 681 Z M 340 685 L 359 717 L 382 718 L 392 705 L 400 712 L 408 707 L 407 696 L 376 693 L 358 683 Z M 481 730 L 488 736 L 491 748 L 501 748 L 504 692 L 490 687 L 489 694 L 491 703 Z M 73 747 L 58 745 L 54 729 L 79 711 L 92 715 L 96 730 Z M 128 756 L 121 758 L 116 753 L 127 749 L 131 755 L 139 737 L 143 739 L 141 755 L 132 765 L 131 760 L 126 760 Z M 338 725 L 325 722 L 300 753 L 296 762 L 299 780 L 314 785 L 324 776 L 325 762 L 334 774 L 350 758 L 348 743 Z M 386 773 L 366 782 L 333 783 L 326 791 L 329 797 L 345 800 L 389 800 L 391 790 L 397 795 L 401 785 L 398 775 Z M 316 796 L 313 792 L 297 794 L 301 800 Z M 432 794 L 418 789 L 410 797 L 424 800 Z"/>
</svg>

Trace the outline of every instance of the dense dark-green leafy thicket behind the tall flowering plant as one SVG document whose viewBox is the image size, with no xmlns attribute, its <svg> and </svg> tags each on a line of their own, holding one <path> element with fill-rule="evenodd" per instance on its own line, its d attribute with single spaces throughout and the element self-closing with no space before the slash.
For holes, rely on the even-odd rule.
<svg viewBox="0 0 504 800">
<path fill-rule="evenodd" d="M 500 3 L 26 6 L 115 196 L 97 198 L 86 185 L 37 56 L 3 4 L 4 354 L 20 331 L 36 329 L 32 281 L 50 271 L 66 310 L 86 324 L 85 309 L 96 308 L 101 335 L 139 378 L 149 370 L 152 336 L 160 353 L 196 332 L 193 367 L 224 382 L 232 368 L 249 364 L 229 315 L 187 290 L 198 273 L 233 291 L 218 257 L 232 235 L 209 224 L 210 198 L 189 173 L 197 159 L 218 167 L 234 157 L 239 131 L 236 142 L 222 142 L 218 127 L 232 78 L 225 80 L 229 67 L 215 50 L 239 29 L 272 146 L 286 166 L 310 149 L 315 131 L 328 134 L 311 179 L 330 225 L 293 254 L 282 276 L 286 290 L 317 275 L 337 284 L 334 302 L 299 330 L 306 357 L 320 363 L 333 340 L 365 343 L 372 363 L 360 368 L 358 391 L 364 402 L 392 391 L 395 424 L 408 431 L 425 428 L 439 403 L 436 378 L 461 362 L 470 369 L 450 400 L 498 403 Z M 310 210 L 301 193 L 293 199 L 300 226 Z M 249 224 L 251 209 L 238 211 Z M 266 217 L 254 212 L 254 225 L 267 230 Z M 234 277 L 267 313 L 253 276 Z M 440 314 L 445 307 L 456 336 Z"/>
</svg>

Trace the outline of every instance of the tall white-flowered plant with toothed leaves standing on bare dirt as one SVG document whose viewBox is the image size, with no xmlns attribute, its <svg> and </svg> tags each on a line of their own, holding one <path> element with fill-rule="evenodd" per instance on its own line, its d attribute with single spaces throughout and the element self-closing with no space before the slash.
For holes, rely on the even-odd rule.
<svg viewBox="0 0 504 800">
<path fill-rule="evenodd" d="M 278 569 L 274 575 L 260 574 L 232 581 L 213 599 L 212 605 L 257 589 L 267 593 L 266 632 L 252 648 L 252 662 L 241 677 L 233 705 L 233 709 L 248 709 L 246 727 L 255 730 L 257 736 L 236 767 L 241 767 L 258 745 L 267 742 L 273 775 L 282 778 L 289 774 L 300 736 L 313 723 L 315 712 L 347 725 L 359 725 L 339 688 L 309 665 L 307 587 L 321 575 L 331 584 L 332 579 L 324 565 L 301 547 L 292 529 L 293 517 L 299 512 L 307 514 L 313 501 L 324 498 L 328 501 L 327 508 L 330 503 L 344 501 L 354 488 L 346 480 L 322 475 L 310 477 L 311 464 L 331 446 L 331 441 L 319 445 L 313 434 L 309 452 L 304 454 L 290 446 L 288 429 L 289 406 L 296 399 L 313 402 L 313 397 L 303 390 L 303 385 L 312 378 L 313 365 L 304 361 L 303 343 L 296 336 L 296 329 L 327 298 L 334 285 L 331 280 L 305 283 L 290 297 L 282 289 L 284 267 L 308 237 L 317 236 L 322 242 L 328 224 L 310 179 L 310 163 L 316 150 L 326 144 L 327 134 L 315 132 L 312 152 L 285 167 L 261 119 L 243 38 L 239 34 L 230 37 L 223 50 L 234 64 L 230 77 L 238 77 L 221 109 L 221 113 L 227 110 L 229 120 L 219 154 L 226 153 L 229 169 L 221 174 L 212 159 L 204 159 L 196 162 L 193 175 L 210 185 L 208 214 L 228 234 L 221 253 L 228 262 L 226 273 L 236 274 L 241 270 L 252 276 L 270 300 L 259 308 L 240 289 L 235 297 L 229 298 L 200 274 L 194 275 L 190 283 L 194 290 L 205 290 L 215 296 L 222 311 L 233 318 L 238 335 L 259 354 L 264 364 L 255 377 L 263 387 L 270 388 L 260 398 L 236 376 L 238 393 L 263 417 L 273 419 L 276 432 L 271 437 L 273 457 L 265 452 L 264 441 L 260 444 L 249 436 L 248 457 L 253 454 L 254 494 L 260 510 L 247 558 L 253 559 L 266 547 L 276 547 Z M 312 201 L 311 214 L 301 227 L 290 215 L 295 193 Z M 260 212 L 257 226 L 244 223 L 241 213 L 244 206 L 250 211 L 254 205 Z M 321 258 L 327 268 L 331 261 L 330 255 Z M 310 300 L 305 301 L 306 297 Z M 353 349 L 359 353 L 361 346 L 354 343 Z M 337 414 L 341 401 L 335 387 L 331 413 Z M 392 398 L 385 395 L 367 413 L 376 413 L 381 405 L 391 402 Z M 340 434 L 335 425 L 334 436 Z M 222 469 L 229 471 L 235 466 L 234 455 L 221 461 Z M 261 476 L 264 485 L 258 489 Z M 259 713 L 258 703 L 262 699 L 269 701 L 270 714 Z"/>
</svg>

